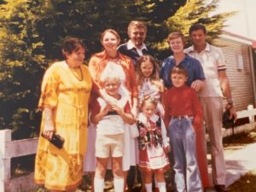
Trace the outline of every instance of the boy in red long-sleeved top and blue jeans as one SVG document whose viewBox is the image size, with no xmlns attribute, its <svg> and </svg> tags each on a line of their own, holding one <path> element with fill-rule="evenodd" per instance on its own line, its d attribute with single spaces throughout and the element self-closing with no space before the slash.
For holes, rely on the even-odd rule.
<svg viewBox="0 0 256 192">
<path fill-rule="evenodd" d="M 185 84 L 187 71 L 174 67 L 172 88 L 164 95 L 165 125 L 173 154 L 174 182 L 177 192 L 202 192 L 196 160 L 195 128 L 201 127 L 202 108 L 195 90 Z"/>
</svg>

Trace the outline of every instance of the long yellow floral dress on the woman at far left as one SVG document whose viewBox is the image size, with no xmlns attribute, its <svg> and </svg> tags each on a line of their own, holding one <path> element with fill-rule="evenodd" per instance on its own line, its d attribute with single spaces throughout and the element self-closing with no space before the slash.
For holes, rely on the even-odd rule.
<svg viewBox="0 0 256 192">
<path fill-rule="evenodd" d="M 55 62 L 44 74 L 39 108 L 52 108 L 55 132 L 65 139 L 63 148 L 55 148 L 39 137 L 35 182 L 47 189 L 73 189 L 81 183 L 86 148 L 88 102 L 92 79 L 87 67 L 70 69 L 66 61 Z M 44 113 L 41 132 L 44 127 Z"/>
</svg>

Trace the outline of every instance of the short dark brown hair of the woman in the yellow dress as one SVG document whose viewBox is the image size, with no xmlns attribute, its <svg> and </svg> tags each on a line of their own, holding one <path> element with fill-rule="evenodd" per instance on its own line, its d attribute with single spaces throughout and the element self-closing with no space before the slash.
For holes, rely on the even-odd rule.
<svg viewBox="0 0 256 192">
<path fill-rule="evenodd" d="M 67 54 L 72 54 L 80 48 L 85 49 L 84 43 L 79 38 L 66 38 L 62 44 L 61 52 L 64 58 Z"/>
</svg>

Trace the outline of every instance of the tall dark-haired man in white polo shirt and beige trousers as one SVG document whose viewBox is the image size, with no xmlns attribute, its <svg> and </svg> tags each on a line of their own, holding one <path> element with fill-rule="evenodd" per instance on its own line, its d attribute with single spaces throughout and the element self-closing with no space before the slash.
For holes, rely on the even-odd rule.
<svg viewBox="0 0 256 192">
<path fill-rule="evenodd" d="M 230 119 L 236 118 L 231 96 L 230 82 L 225 73 L 224 54 L 221 49 L 206 42 L 207 30 L 201 24 L 189 28 L 193 45 L 184 52 L 201 62 L 205 76 L 205 88 L 198 93 L 204 112 L 206 128 L 212 146 L 212 178 L 218 192 L 225 191 L 225 161 L 222 144 L 223 94 L 227 99 L 226 108 L 230 108 Z"/>
</svg>

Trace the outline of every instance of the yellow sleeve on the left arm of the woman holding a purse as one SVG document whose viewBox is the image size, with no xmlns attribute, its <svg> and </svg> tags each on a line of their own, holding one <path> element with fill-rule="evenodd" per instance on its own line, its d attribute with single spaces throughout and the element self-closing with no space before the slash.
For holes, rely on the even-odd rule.
<svg viewBox="0 0 256 192">
<path fill-rule="evenodd" d="M 44 79 L 41 86 L 41 96 L 38 103 L 38 108 L 55 108 L 57 105 L 58 95 L 57 90 L 59 86 L 58 69 L 53 64 L 44 73 Z"/>
</svg>

